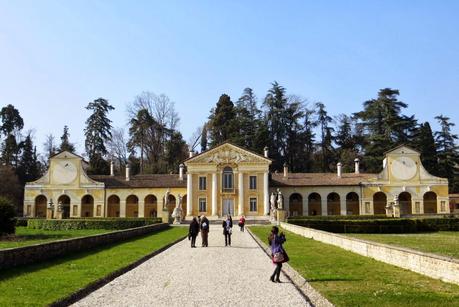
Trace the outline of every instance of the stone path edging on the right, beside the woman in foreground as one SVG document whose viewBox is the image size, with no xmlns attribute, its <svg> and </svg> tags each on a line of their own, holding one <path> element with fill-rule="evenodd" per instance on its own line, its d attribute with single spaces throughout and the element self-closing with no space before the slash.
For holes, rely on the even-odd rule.
<svg viewBox="0 0 459 307">
<path fill-rule="evenodd" d="M 257 242 L 258 246 L 265 252 L 266 256 L 271 259 L 270 248 L 267 244 L 261 241 L 256 235 L 250 231 L 250 227 L 246 227 L 250 236 Z M 330 307 L 334 306 L 329 300 L 327 300 L 322 294 L 314 289 L 308 281 L 301 276 L 291 265 L 284 263 L 282 266 L 282 272 L 284 275 L 293 283 L 295 288 L 305 298 L 305 300 L 312 306 L 317 307 Z"/>
</svg>

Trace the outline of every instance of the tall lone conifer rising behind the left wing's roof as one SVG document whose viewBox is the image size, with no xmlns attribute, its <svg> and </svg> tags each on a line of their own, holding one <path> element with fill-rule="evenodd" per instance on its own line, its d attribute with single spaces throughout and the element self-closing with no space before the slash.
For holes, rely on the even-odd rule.
<svg viewBox="0 0 459 307">
<path fill-rule="evenodd" d="M 85 148 L 89 157 L 88 173 L 105 173 L 108 170 L 108 163 L 104 160 L 107 154 L 105 143 L 112 137 L 112 121 L 108 118 L 108 112 L 115 108 L 106 99 L 98 98 L 90 102 L 86 109 L 92 111 L 84 130 Z"/>
</svg>

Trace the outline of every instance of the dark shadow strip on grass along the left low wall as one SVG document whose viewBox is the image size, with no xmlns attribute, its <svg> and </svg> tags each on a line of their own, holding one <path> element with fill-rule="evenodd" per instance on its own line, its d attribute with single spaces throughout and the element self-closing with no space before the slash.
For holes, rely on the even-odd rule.
<svg viewBox="0 0 459 307">
<path fill-rule="evenodd" d="M 49 260 L 46 260 L 46 261 L 43 261 L 43 262 L 40 262 L 40 263 L 28 264 L 28 265 L 24 265 L 24 266 L 20 266 L 20 267 L 0 270 L 0 282 L 7 281 L 8 279 L 11 279 L 11 278 L 16 278 L 16 277 L 21 276 L 23 274 L 28 274 L 28 273 L 32 273 L 32 272 L 35 272 L 35 271 L 47 269 L 47 268 L 50 268 L 50 267 L 55 266 L 55 265 L 63 264 L 65 262 L 67 262 L 67 261 L 78 260 L 80 258 L 83 258 L 83 257 L 86 257 L 86 256 L 90 256 L 92 254 L 95 254 L 95 253 L 98 253 L 98 252 L 102 252 L 104 250 L 108 250 L 108 249 L 114 248 L 114 247 L 116 247 L 116 246 L 118 246 L 120 244 L 125 244 L 125 243 L 129 243 L 129 242 L 133 242 L 133 241 L 137 241 L 137 240 L 149 237 L 151 235 L 160 234 L 160 233 L 162 233 L 162 232 L 164 232 L 166 230 L 169 230 L 169 229 L 170 228 L 161 229 L 161 230 L 155 231 L 153 233 L 148 233 L 148 234 L 145 234 L 145 235 L 142 235 L 142 236 L 138 236 L 138 237 L 135 237 L 135 238 L 119 241 L 119 242 L 116 242 L 116 243 L 110 243 L 110 244 L 103 245 L 103 246 L 97 246 L 97 247 L 94 247 L 94 248 L 91 248 L 91 249 L 88 249 L 88 250 L 85 250 L 85 251 L 82 251 L 82 252 L 79 252 L 79 253 L 76 253 L 76 254 L 58 256 L 58 257 L 55 257 L 55 258 L 52 258 L 52 259 L 49 259 Z"/>
</svg>

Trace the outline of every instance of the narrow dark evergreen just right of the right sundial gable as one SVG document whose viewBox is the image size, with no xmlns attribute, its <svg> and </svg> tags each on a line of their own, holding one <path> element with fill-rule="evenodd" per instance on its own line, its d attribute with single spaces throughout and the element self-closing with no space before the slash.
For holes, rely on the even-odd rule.
<svg viewBox="0 0 459 307">
<path fill-rule="evenodd" d="M 413 143 L 414 147 L 421 153 L 422 165 L 433 174 L 438 174 L 438 156 L 435 138 L 429 122 L 421 124 L 416 133 Z"/>
</svg>

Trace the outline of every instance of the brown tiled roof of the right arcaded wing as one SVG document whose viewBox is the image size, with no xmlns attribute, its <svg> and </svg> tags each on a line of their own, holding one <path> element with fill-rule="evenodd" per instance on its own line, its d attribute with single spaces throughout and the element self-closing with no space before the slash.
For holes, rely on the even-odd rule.
<svg viewBox="0 0 459 307">
<path fill-rule="evenodd" d="M 343 173 L 338 177 L 336 173 L 289 173 L 284 178 L 283 173 L 274 173 L 271 176 L 271 186 L 350 186 L 359 185 L 370 178 L 376 178 L 376 174 Z"/>
</svg>

